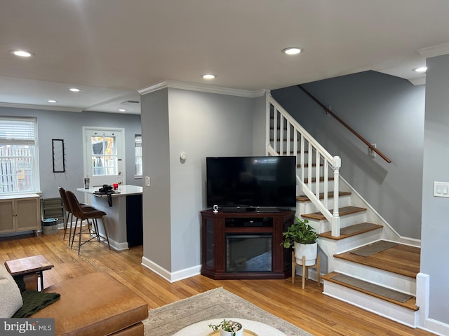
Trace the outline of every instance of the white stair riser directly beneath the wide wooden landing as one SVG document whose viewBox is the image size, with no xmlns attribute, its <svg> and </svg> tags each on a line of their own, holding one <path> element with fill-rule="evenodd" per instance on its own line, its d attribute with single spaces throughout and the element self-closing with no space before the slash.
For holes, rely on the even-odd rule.
<svg viewBox="0 0 449 336">
<path fill-rule="evenodd" d="M 375 283 L 401 293 L 416 295 L 416 279 L 335 258 L 335 272 Z"/>
</svg>

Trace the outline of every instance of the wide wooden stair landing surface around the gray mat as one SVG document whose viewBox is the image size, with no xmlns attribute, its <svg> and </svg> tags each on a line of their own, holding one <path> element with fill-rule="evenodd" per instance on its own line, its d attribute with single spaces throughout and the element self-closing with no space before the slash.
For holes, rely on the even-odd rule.
<svg viewBox="0 0 449 336">
<path fill-rule="evenodd" d="M 335 254 L 334 257 L 416 279 L 420 272 L 421 248 L 397 244 L 368 257 L 356 255 L 351 251 Z"/>
</svg>

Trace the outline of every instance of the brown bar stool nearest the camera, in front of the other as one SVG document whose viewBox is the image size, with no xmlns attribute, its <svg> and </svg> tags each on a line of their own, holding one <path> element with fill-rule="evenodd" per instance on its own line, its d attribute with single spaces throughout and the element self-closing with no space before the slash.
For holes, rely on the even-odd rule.
<svg viewBox="0 0 449 336">
<path fill-rule="evenodd" d="M 78 219 L 80 220 L 80 224 L 79 224 L 79 245 L 78 245 L 78 254 L 81 251 L 81 245 L 86 244 L 88 241 L 92 241 L 93 239 L 97 239 L 98 242 L 100 241 L 107 241 L 107 246 L 109 246 L 109 250 L 111 249 L 111 245 L 109 244 L 109 237 L 107 236 L 107 229 L 106 229 L 106 225 L 105 225 L 105 220 L 103 218 L 103 216 L 106 216 L 105 211 L 100 211 L 97 209 L 94 210 L 86 210 L 83 209 L 81 207 L 81 204 L 79 204 L 78 199 L 76 199 L 76 196 L 74 195 L 74 193 L 72 193 L 69 190 L 66 190 L 66 195 L 67 195 L 67 200 L 69 202 L 69 207 L 72 211 L 73 216 L 76 217 L 76 221 L 75 221 L 75 228 L 74 228 L 74 232 L 73 232 L 73 236 L 72 236 L 72 245 L 70 246 L 71 248 L 73 247 L 73 242 L 75 239 L 75 235 L 76 235 L 76 225 L 78 224 Z M 91 239 L 85 240 L 81 242 L 81 235 L 83 233 L 82 230 L 82 224 L 83 221 L 89 221 L 89 219 L 92 220 L 92 225 L 93 228 L 95 230 L 95 235 L 93 235 L 93 237 L 91 237 Z M 101 219 L 102 224 L 103 224 L 103 229 L 105 230 L 105 235 L 106 238 L 100 236 L 100 232 L 98 231 L 98 219 Z M 89 224 L 88 224 L 89 225 Z M 92 235 L 91 229 L 88 226 L 88 230 L 90 235 Z"/>
</svg>

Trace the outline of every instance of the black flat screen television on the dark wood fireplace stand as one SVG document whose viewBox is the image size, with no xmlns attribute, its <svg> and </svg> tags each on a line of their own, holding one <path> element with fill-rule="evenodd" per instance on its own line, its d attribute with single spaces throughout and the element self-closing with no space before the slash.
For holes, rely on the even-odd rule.
<svg viewBox="0 0 449 336">
<path fill-rule="evenodd" d="M 206 181 L 208 207 L 296 207 L 294 156 L 208 157 Z"/>
</svg>

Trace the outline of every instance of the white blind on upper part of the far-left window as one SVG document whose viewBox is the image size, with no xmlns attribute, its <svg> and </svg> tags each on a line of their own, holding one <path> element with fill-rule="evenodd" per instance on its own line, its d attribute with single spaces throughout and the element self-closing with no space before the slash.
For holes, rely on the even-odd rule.
<svg viewBox="0 0 449 336">
<path fill-rule="evenodd" d="M 0 144 L 35 145 L 36 118 L 0 117 Z"/>
</svg>

